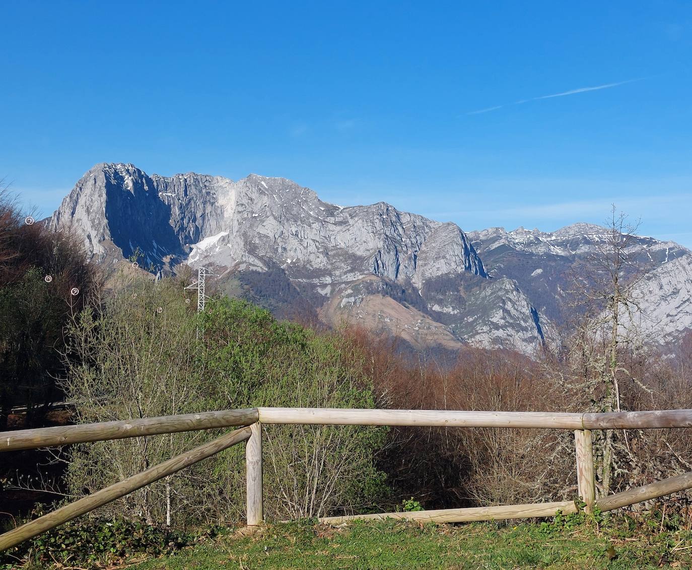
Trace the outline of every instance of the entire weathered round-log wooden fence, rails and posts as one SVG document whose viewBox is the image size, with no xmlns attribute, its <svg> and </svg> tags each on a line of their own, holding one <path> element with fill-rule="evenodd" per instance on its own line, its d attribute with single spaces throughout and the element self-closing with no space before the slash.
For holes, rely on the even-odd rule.
<svg viewBox="0 0 692 570">
<path fill-rule="evenodd" d="M 692 488 L 692 472 L 650 485 L 596 499 L 593 429 L 655 429 L 692 427 L 692 410 L 630 411 L 614 413 L 552 413 L 450 410 L 384 410 L 330 408 L 250 408 L 190 413 L 159 418 L 100 422 L 64 427 L 21 429 L 0 433 L 0 452 L 38 447 L 55 447 L 71 443 L 174 434 L 181 431 L 239 427 L 208 443 L 200 445 L 160 465 L 128 477 L 107 488 L 60 507 L 38 519 L 0 535 L 0 551 L 44 533 L 75 517 L 89 513 L 115 499 L 149 485 L 158 479 L 193 465 L 204 458 L 246 443 L 246 480 L 248 526 L 262 524 L 262 423 L 295 425 L 405 425 L 438 427 L 509 427 L 574 430 L 576 473 L 579 496 L 590 513 L 594 506 L 601 511 L 613 510 L 673 492 Z M 482 520 L 552 517 L 557 512 L 576 513 L 574 501 L 509 505 L 478 508 L 423 510 L 415 513 L 381 513 L 323 517 L 321 522 L 340 523 L 352 519 L 413 519 L 426 522 L 467 522 Z"/>
</svg>

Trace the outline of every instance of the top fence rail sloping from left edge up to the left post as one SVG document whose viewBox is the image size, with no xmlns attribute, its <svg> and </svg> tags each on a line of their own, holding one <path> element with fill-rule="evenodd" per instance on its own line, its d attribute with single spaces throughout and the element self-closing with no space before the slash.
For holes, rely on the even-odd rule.
<svg viewBox="0 0 692 570">
<path fill-rule="evenodd" d="M 184 413 L 178 416 L 137 418 L 134 420 L 99 422 L 93 424 L 2 431 L 0 432 L 0 452 L 68 445 L 70 443 L 84 443 L 86 441 L 104 441 L 109 439 L 154 436 L 158 434 L 174 434 L 180 431 L 194 431 L 196 429 L 250 425 L 255 423 L 258 417 L 257 408 L 248 408 Z"/>
</svg>

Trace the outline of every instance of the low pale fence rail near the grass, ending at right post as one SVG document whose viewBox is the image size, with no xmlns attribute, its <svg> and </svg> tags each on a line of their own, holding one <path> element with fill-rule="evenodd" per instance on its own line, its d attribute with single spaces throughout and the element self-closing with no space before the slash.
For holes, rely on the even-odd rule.
<svg viewBox="0 0 692 570">
<path fill-rule="evenodd" d="M 417 510 L 412 513 L 378 513 L 376 515 L 349 515 L 345 517 L 322 517 L 320 522 L 341 524 L 354 520 L 406 519 L 419 522 L 472 522 L 500 521 L 507 519 L 532 519 L 534 517 L 554 517 L 557 512 L 565 515 L 577 513 L 579 508 L 574 501 L 557 503 L 538 503 L 530 505 L 508 505 L 500 507 L 446 508 L 438 510 Z"/>
</svg>

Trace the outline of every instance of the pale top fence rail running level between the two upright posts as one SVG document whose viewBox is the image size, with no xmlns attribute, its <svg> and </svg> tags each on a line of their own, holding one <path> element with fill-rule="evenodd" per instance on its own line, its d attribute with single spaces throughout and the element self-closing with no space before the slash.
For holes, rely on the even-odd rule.
<svg viewBox="0 0 692 570">
<path fill-rule="evenodd" d="M 550 427 L 582 429 L 581 413 L 541 411 L 257 408 L 265 424 Z"/>
</svg>

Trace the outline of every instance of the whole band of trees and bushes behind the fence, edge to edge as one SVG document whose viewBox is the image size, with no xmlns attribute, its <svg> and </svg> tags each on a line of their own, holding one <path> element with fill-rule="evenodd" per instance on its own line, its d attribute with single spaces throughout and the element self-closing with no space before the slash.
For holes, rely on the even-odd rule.
<svg viewBox="0 0 692 570">
<path fill-rule="evenodd" d="M 532 359 L 467 347 L 453 362 L 441 362 L 429 353 L 402 353 L 396 336 L 347 323 L 313 327 L 309 312 L 293 316 L 302 324 L 277 320 L 221 292 L 197 314 L 183 272 L 153 280 L 127 264 L 127 271 L 116 269 L 105 280 L 69 233 L 30 223 L 7 197 L 0 220 L 3 427 L 46 425 L 54 420 L 46 416 L 48 404 L 62 400 L 73 402 L 62 421 L 77 423 L 261 406 L 692 408 L 692 337 L 675 357 L 664 358 L 638 341 L 632 323 L 617 312 L 628 300 L 627 276 L 635 275 L 620 255 L 628 238 L 623 226 L 603 249 L 603 271 L 583 274 L 581 297 L 575 297 L 582 303 L 579 318 L 561 344 Z M 262 274 L 246 275 L 261 283 Z M 282 283 L 279 270 L 275 281 Z M 262 286 L 279 287 L 274 281 Z M 292 294 L 289 285 L 282 291 Z M 73 445 L 51 454 L 8 453 L 0 474 L 0 510 L 8 513 L 2 524 L 12 528 L 56 501 L 94 492 L 218 435 L 210 430 Z M 568 431 L 271 425 L 264 437 L 270 520 L 576 498 Z M 606 430 L 594 438 L 603 495 L 690 469 L 688 430 Z M 149 529 L 154 544 L 239 524 L 244 477 L 243 454 L 231 448 L 67 526 L 60 540 L 76 546 L 61 555 L 107 560 L 98 542 L 75 538 L 100 533 L 106 522 L 125 535 Z M 24 502 L 8 499 L 22 493 Z M 670 508 L 689 516 L 681 503 Z M 21 560 L 32 549 L 44 552 L 44 562 L 55 557 L 42 544 L 37 538 L 17 546 L 3 560 Z"/>
</svg>

